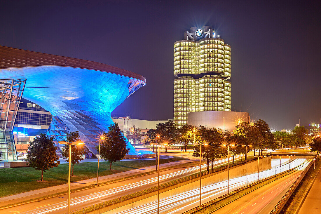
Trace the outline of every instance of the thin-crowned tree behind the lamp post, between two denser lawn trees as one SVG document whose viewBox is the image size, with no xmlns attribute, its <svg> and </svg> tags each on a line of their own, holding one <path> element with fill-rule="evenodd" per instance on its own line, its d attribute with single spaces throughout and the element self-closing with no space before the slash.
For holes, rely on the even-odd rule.
<svg viewBox="0 0 321 214">
<path fill-rule="evenodd" d="M 68 143 L 72 143 L 74 141 L 78 141 L 79 139 L 79 131 L 74 131 L 67 133 L 66 141 Z M 81 160 L 83 160 L 83 156 L 86 154 L 86 150 L 83 145 L 71 145 L 71 163 L 73 164 L 73 173 L 74 176 L 74 165 L 79 164 Z M 69 145 L 64 145 L 61 149 L 61 156 L 65 160 L 65 162 L 69 162 Z"/>
</svg>

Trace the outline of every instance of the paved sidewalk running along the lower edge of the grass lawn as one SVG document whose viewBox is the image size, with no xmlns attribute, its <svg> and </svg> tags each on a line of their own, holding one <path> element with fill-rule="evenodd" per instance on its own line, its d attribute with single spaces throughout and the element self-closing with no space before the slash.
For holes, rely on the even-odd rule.
<svg viewBox="0 0 321 214">
<path fill-rule="evenodd" d="M 165 164 L 160 165 L 160 169 L 170 167 L 170 166 L 179 165 L 179 164 L 189 163 L 189 162 L 193 162 L 193 161 L 195 161 L 195 160 L 180 160 L 180 161 L 165 163 Z M 134 170 L 126 171 L 126 172 L 101 176 L 101 177 L 98 177 L 98 183 L 112 181 L 112 180 L 119 179 L 119 178 L 126 178 L 128 176 L 153 171 L 155 169 L 156 169 L 156 165 L 153 165 L 153 166 L 148 166 L 148 167 L 144 167 L 141 169 L 134 169 Z M 91 179 L 71 183 L 70 184 L 71 192 L 72 192 L 72 190 L 80 188 L 80 187 L 95 185 L 96 179 L 97 178 L 91 178 Z M 22 201 L 27 201 L 27 200 L 31 200 L 31 199 L 35 199 L 35 198 L 40 198 L 40 197 L 46 198 L 48 195 L 59 193 L 59 192 L 64 192 L 64 191 L 68 191 L 68 183 L 62 184 L 62 185 L 57 185 L 57 186 L 52 186 L 52 187 L 47 187 L 47 188 L 43 188 L 43 189 L 39 189 L 39 190 L 33 190 L 30 192 L 23 192 L 23 193 L 19 193 L 16 195 L 2 197 L 2 198 L 0 198 L 0 202 L 1 202 L 1 206 L 6 206 L 6 205 L 13 204 L 13 203 L 19 203 Z"/>
</svg>

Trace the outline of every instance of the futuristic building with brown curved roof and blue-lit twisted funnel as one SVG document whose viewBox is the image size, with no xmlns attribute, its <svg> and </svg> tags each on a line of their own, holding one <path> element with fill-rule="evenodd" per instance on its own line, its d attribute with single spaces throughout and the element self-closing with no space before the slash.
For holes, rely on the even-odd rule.
<svg viewBox="0 0 321 214">
<path fill-rule="evenodd" d="M 0 46 L 2 159 L 17 159 L 13 132 L 21 130 L 13 126 L 22 96 L 51 113 L 48 136 L 58 142 L 79 131 L 88 153 L 97 157 L 99 136 L 113 123 L 111 111 L 145 84 L 143 76 L 102 63 Z M 126 158 L 155 156 L 138 154 L 129 142 L 128 147 Z"/>
</svg>

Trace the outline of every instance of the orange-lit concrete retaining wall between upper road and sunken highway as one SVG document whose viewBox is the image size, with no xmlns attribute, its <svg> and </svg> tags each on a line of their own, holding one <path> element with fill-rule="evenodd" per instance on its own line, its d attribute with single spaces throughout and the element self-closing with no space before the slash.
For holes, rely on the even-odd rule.
<svg viewBox="0 0 321 214">
<path fill-rule="evenodd" d="M 260 172 L 265 171 L 267 168 L 271 169 L 271 157 L 264 157 L 260 158 Z M 258 170 L 258 161 L 254 160 L 252 162 L 248 162 L 248 174 L 256 173 Z M 230 167 L 230 179 L 241 177 L 246 175 L 246 165 L 237 165 L 234 167 Z M 202 177 L 202 186 L 207 186 L 213 183 L 218 183 L 222 181 L 226 181 L 228 179 L 228 169 L 225 169 L 218 173 L 209 174 L 207 176 Z M 194 181 L 189 181 L 185 183 L 180 183 L 177 185 L 170 186 L 168 188 L 160 190 L 160 198 L 167 198 L 173 195 L 177 195 L 183 192 L 187 192 L 190 190 L 198 189 L 199 188 L 199 178 L 195 179 Z M 213 200 L 216 198 L 210 198 Z M 113 214 L 123 210 L 131 209 L 134 207 L 142 206 L 147 203 L 157 201 L 157 192 L 151 192 L 149 194 L 145 194 L 143 196 L 130 199 L 127 201 L 123 201 L 117 204 L 114 204 L 109 207 L 102 208 L 100 210 L 95 210 L 90 212 L 91 214 Z"/>
</svg>

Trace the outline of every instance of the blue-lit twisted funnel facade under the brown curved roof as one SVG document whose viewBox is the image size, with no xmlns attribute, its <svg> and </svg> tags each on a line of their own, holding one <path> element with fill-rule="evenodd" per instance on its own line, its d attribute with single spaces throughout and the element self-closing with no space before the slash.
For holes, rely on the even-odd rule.
<svg viewBox="0 0 321 214">
<path fill-rule="evenodd" d="M 0 71 L 0 78 L 27 79 L 23 97 L 52 114 L 47 135 L 59 141 L 65 140 L 67 133 L 79 131 L 93 154 L 97 154 L 98 136 L 114 123 L 110 113 L 145 85 L 132 77 L 75 67 L 33 66 Z M 128 147 L 129 155 L 138 154 L 129 142 Z"/>
</svg>

